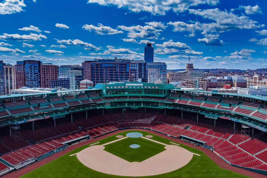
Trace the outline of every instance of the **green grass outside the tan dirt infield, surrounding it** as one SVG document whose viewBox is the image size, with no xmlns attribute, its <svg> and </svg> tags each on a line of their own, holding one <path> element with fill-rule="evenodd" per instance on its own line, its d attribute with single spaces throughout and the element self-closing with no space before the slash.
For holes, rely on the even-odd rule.
<svg viewBox="0 0 267 178">
<path fill-rule="evenodd" d="M 96 142 L 100 142 L 97 145 L 101 145 L 101 144 L 116 140 L 116 139 L 118 139 L 116 137 L 117 135 L 126 136 L 126 134 L 129 132 L 134 132 L 134 131 L 132 131 L 132 130 L 131 131 L 124 131 L 124 132 L 121 132 L 119 134 L 115 134 L 113 136 L 107 137 L 105 139 L 101 139 L 99 141 L 96 141 Z M 151 134 L 151 133 L 148 133 L 145 131 L 136 131 L 136 132 L 142 133 L 143 136 L 152 135 L 153 137 L 150 139 L 153 139 L 153 140 L 156 140 L 158 142 L 165 143 L 165 144 L 170 144 L 169 142 L 173 142 L 169 139 L 165 139 L 165 138 L 162 138 L 160 136 L 156 136 L 154 134 Z M 128 139 L 129 139 L 129 141 L 131 140 L 131 138 L 126 138 L 123 140 L 128 142 L 127 141 Z M 134 138 L 134 139 L 142 139 L 142 138 Z M 120 144 L 120 142 L 123 140 L 120 140 L 117 143 Z M 150 143 L 151 141 L 149 141 L 149 140 L 146 140 L 146 141 L 147 141 L 146 143 L 151 145 L 152 149 L 154 147 L 153 145 L 158 145 L 157 143 L 154 143 L 154 142 Z M 141 141 L 141 142 L 143 142 L 143 141 Z M 131 144 L 139 144 L 140 145 L 139 148 L 146 146 L 146 144 L 141 146 L 141 144 L 143 144 L 141 142 L 140 142 L 140 144 L 136 143 L 136 142 L 131 143 Z M 107 148 L 107 146 L 108 145 L 105 145 L 106 148 Z M 129 147 L 129 145 L 125 145 L 125 149 L 126 149 L 126 146 Z M 161 146 L 161 145 L 159 145 L 159 146 Z M 162 146 L 164 149 L 164 145 L 162 145 Z M 199 177 L 199 178 L 204 178 L 204 177 L 243 178 L 243 177 L 248 177 L 248 176 L 245 176 L 242 174 L 238 174 L 238 173 L 220 168 L 216 163 L 214 163 L 202 151 L 193 148 L 194 147 L 193 145 L 192 145 L 192 147 L 188 147 L 188 146 L 180 144 L 180 146 L 189 150 L 190 152 L 194 152 L 194 153 L 199 154 L 201 156 L 193 155 L 193 158 L 191 159 L 191 161 L 187 165 L 185 165 L 182 168 L 177 169 L 175 171 L 165 173 L 165 174 L 155 175 L 155 176 L 146 176 L 146 177 L 142 177 L 142 178 L 172 178 L 172 177 L 173 178 L 174 177 L 175 178 L 176 177 L 179 177 L 179 178 L 189 178 L 189 177 L 194 177 L 194 178 L 195 177 Z M 65 155 L 45 164 L 45 165 L 43 165 L 43 166 L 41 166 L 41 167 L 39 167 L 33 171 L 21 176 L 21 177 L 22 178 L 44 178 L 44 177 L 45 178 L 47 178 L 47 177 L 51 177 L 51 178 L 59 178 L 59 177 L 62 177 L 62 178 L 72 178 L 72 177 L 73 178 L 88 178 L 88 177 L 90 177 L 90 178 L 99 178 L 99 177 L 100 178 L 106 178 L 106 177 L 122 178 L 123 177 L 123 176 L 104 174 L 104 173 L 95 171 L 93 169 L 90 169 L 90 168 L 84 166 L 77 159 L 76 155 L 69 156 L 69 155 L 72 155 L 74 153 L 80 152 L 81 150 L 83 150 L 87 147 L 89 147 L 89 144 L 82 146 L 82 147 L 79 147 L 73 151 L 70 151 L 69 153 L 67 153 L 67 154 L 65 154 Z M 112 147 L 112 145 L 111 145 L 111 147 Z M 136 149 L 139 149 L 139 148 L 136 148 Z M 161 152 L 161 148 L 158 151 Z M 111 148 L 109 147 L 108 149 L 111 149 Z M 116 146 L 114 147 L 114 150 L 112 152 L 116 152 L 115 149 L 117 149 Z M 121 148 L 121 149 L 124 149 L 124 148 Z M 130 149 L 135 150 L 133 148 L 130 148 Z M 155 149 L 155 151 L 157 151 L 157 150 Z M 120 157 L 122 157 L 122 156 L 123 155 L 120 155 Z M 125 154 L 124 154 L 124 156 L 125 156 Z M 136 157 L 137 156 L 138 156 L 138 154 L 136 155 Z M 141 156 L 144 156 L 144 155 L 141 155 Z M 149 157 L 151 157 L 151 156 L 149 156 Z M 147 157 L 147 158 L 149 158 L 149 157 Z M 144 159 L 144 157 L 142 159 Z"/>
</svg>

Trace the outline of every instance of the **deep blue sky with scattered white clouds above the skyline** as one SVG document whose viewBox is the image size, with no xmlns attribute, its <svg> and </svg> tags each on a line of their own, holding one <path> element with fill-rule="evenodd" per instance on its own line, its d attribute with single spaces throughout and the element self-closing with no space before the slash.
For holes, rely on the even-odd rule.
<svg viewBox="0 0 267 178">
<path fill-rule="evenodd" d="M 139 60 L 151 42 L 167 69 L 267 68 L 266 13 L 264 0 L 5 0 L 0 60 Z"/>
</svg>

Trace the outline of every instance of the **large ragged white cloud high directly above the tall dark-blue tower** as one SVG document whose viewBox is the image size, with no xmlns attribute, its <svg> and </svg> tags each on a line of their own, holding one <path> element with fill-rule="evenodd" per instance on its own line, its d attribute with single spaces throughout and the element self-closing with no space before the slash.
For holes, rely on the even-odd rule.
<svg viewBox="0 0 267 178">
<path fill-rule="evenodd" d="M 146 22 L 146 26 L 118 26 L 122 30 L 129 31 L 129 38 L 147 38 L 147 39 L 158 39 L 160 31 L 166 29 L 167 26 L 164 26 L 162 22 Z"/>
</svg>

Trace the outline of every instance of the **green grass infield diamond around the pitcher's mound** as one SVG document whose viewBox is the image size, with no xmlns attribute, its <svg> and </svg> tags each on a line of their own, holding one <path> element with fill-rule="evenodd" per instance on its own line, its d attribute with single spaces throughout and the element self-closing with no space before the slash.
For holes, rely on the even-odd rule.
<svg viewBox="0 0 267 178">
<path fill-rule="evenodd" d="M 131 148 L 131 144 L 139 144 L 139 148 Z M 164 145 L 143 138 L 126 138 L 104 146 L 105 151 L 129 162 L 142 162 L 166 150 Z"/>
</svg>

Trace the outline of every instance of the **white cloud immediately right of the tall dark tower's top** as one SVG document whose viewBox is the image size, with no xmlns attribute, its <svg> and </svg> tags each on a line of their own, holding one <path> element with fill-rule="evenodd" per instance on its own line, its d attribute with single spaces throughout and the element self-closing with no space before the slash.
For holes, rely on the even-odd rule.
<svg viewBox="0 0 267 178">
<path fill-rule="evenodd" d="M 168 42 L 163 42 L 163 44 L 156 44 L 155 46 L 161 47 L 157 48 L 154 53 L 156 54 L 167 54 L 167 55 L 201 55 L 203 52 L 196 52 L 192 50 L 185 43 L 181 42 L 173 42 L 173 40 L 169 40 Z"/>
</svg>

